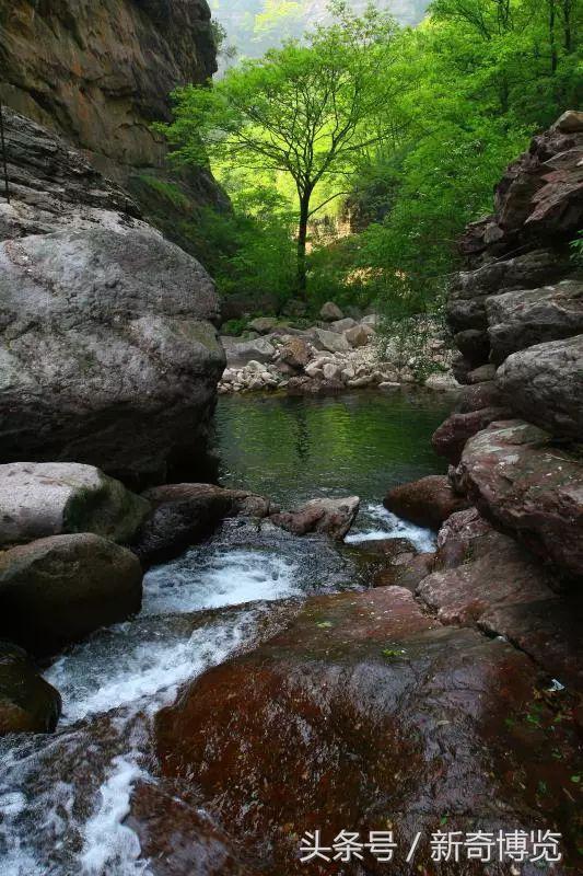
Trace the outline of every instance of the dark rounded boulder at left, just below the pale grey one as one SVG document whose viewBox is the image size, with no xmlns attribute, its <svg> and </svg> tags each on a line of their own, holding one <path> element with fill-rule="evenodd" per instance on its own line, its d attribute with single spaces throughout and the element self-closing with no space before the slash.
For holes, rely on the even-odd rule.
<svg viewBox="0 0 583 876">
<path fill-rule="evenodd" d="M 137 556 L 100 535 L 51 535 L 0 554 L 1 634 L 36 655 L 126 620 L 141 597 Z"/>
</svg>

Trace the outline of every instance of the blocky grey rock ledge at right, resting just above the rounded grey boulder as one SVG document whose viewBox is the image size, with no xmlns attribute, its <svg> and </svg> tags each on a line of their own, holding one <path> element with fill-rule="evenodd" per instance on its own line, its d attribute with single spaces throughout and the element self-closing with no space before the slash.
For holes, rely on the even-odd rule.
<svg viewBox="0 0 583 876">
<path fill-rule="evenodd" d="M 529 291 L 486 299 L 492 359 L 546 341 L 583 333 L 583 281 L 564 280 Z"/>
</svg>

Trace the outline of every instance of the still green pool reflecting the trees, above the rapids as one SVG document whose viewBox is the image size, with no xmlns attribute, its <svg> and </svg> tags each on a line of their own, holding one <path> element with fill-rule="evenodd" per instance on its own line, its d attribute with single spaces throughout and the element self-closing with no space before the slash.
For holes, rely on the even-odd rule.
<svg viewBox="0 0 583 876">
<path fill-rule="evenodd" d="M 222 483 L 284 506 L 348 493 L 377 503 L 397 483 L 445 471 L 430 438 L 450 406 L 450 399 L 428 392 L 223 396 Z"/>
</svg>

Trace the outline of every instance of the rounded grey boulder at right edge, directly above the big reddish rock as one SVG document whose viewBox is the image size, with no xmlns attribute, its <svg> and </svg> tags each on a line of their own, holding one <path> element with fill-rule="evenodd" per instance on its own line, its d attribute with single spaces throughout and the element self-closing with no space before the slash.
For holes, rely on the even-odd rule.
<svg viewBox="0 0 583 876">
<path fill-rule="evenodd" d="M 512 407 L 553 435 L 583 435 L 583 335 L 514 353 L 498 370 Z"/>
</svg>

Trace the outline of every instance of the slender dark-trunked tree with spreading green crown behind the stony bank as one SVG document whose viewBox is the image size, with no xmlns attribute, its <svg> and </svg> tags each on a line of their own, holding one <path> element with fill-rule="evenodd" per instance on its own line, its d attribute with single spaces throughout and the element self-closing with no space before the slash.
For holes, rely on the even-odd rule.
<svg viewBox="0 0 583 876">
<path fill-rule="evenodd" d="M 398 83 L 388 74 L 396 27 L 369 7 L 362 16 L 333 7 L 335 24 L 243 61 L 213 88 L 174 94 L 174 122 L 160 126 L 178 162 L 208 158 L 289 175 L 298 194 L 298 291 L 306 292 L 310 218 L 340 194 L 359 153 L 390 132 Z M 331 192 L 314 205 L 318 185 Z"/>
</svg>

